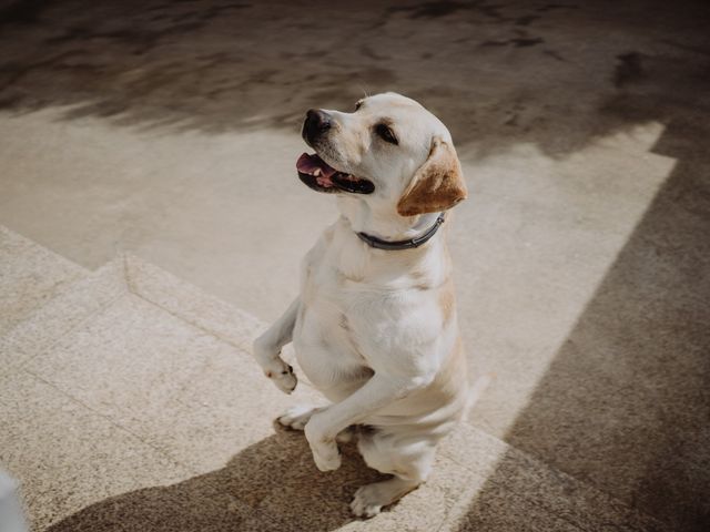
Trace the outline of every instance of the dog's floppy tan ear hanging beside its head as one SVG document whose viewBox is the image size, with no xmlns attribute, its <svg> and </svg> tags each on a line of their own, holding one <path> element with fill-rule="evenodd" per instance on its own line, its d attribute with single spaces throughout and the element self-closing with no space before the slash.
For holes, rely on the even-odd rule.
<svg viewBox="0 0 710 532">
<path fill-rule="evenodd" d="M 452 208 L 467 195 L 456 150 L 448 142 L 435 137 L 429 156 L 399 198 L 397 213 L 402 216 L 438 213 Z"/>
</svg>

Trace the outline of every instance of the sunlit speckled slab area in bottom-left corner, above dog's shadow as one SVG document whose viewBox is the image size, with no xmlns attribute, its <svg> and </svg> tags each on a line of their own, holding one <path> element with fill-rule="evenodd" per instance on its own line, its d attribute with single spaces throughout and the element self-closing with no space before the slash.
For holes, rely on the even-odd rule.
<svg viewBox="0 0 710 532">
<path fill-rule="evenodd" d="M 26 371 L 0 378 L 0 462 L 19 481 L 33 530 L 128 491 L 191 472 Z"/>
</svg>

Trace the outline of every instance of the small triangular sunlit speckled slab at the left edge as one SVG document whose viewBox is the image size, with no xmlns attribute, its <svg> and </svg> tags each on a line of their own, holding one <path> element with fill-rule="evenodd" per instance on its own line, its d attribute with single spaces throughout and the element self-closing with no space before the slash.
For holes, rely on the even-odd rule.
<svg viewBox="0 0 710 532">
<path fill-rule="evenodd" d="M 88 273 L 0 225 L 0 337 Z"/>
</svg>

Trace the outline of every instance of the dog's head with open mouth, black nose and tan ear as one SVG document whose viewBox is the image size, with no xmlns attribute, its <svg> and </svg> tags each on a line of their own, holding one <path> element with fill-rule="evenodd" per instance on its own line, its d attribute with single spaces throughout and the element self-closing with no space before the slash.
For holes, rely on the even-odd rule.
<svg viewBox="0 0 710 532">
<path fill-rule="evenodd" d="M 453 207 L 466 198 L 462 167 L 446 126 L 395 93 L 365 98 L 355 111 L 312 109 L 303 139 L 301 180 L 318 192 L 358 195 L 399 216 Z"/>
</svg>

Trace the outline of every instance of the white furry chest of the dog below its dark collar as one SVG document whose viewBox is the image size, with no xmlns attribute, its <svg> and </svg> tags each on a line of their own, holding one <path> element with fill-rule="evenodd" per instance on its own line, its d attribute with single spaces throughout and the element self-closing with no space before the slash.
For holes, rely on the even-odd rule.
<svg viewBox="0 0 710 532">
<path fill-rule="evenodd" d="M 304 257 L 294 346 L 306 377 L 331 400 L 347 397 L 378 368 L 436 366 L 450 350 L 455 330 L 447 330 L 438 290 L 430 289 L 448 278 L 448 259 L 440 243 L 432 244 L 372 249 L 341 219 Z M 412 360 L 389 359 L 392 345 L 410 345 Z M 423 345 L 426 356 L 417 358 Z"/>
</svg>

